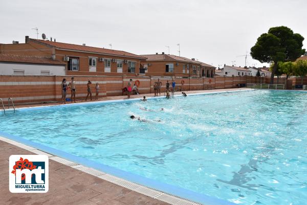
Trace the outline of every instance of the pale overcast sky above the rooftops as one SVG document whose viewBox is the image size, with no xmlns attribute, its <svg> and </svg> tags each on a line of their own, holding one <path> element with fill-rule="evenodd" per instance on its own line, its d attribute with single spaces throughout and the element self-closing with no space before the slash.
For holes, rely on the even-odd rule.
<svg viewBox="0 0 307 205">
<path fill-rule="evenodd" d="M 245 66 L 257 38 L 275 26 L 305 37 L 304 0 L 155 0 L 0 2 L 0 43 L 25 36 L 111 48 L 134 54 L 165 52 L 219 65 Z M 263 66 L 247 56 L 247 66 Z"/>
</svg>

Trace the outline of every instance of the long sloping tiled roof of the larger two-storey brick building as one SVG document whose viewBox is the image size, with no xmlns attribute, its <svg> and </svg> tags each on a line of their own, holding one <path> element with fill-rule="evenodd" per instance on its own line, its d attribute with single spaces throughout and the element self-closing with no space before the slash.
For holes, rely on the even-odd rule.
<svg viewBox="0 0 307 205">
<path fill-rule="evenodd" d="M 54 42 L 54 41 L 39 40 L 39 39 L 33 39 L 33 38 L 31 38 L 31 41 L 38 41 L 40 43 L 52 45 L 56 47 L 57 49 L 67 49 L 67 50 L 82 51 L 82 52 L 89 52 L 89 53 L 101 53 L 101 54 L 107 54 L 107 55 L 133 57 L 133 58 L 141 58 L 141 59 L 144 58 L 142 56 L 139 56 L 133 53 L 128 53 L 125 51 L 89 47 L 87 45 L 77 45 L 77 44 L 71 44 L 71 43 Z"/>
</svg>

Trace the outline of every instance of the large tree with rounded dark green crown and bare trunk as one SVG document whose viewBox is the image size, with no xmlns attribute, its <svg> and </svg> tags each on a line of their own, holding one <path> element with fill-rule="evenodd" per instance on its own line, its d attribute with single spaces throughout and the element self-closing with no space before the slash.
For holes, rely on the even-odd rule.
<svg viewBox="0 0 307 205">
<path fill-rule="evenodd" d="M 272 27 L 268 33 L 261 34 L 251 48 L 251 56 L 261 63 L 274 63 L 270 84 L 274 83 L 278 61 L 295 61 L 305 50 L 302 49 L 304 38 L 293 33 L 288 27 Z"/>
</svg>

